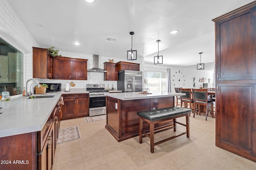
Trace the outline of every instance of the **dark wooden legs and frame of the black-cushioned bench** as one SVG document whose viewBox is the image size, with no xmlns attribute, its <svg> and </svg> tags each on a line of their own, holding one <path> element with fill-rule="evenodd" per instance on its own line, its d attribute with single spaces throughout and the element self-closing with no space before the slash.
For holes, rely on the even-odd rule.
<svg viewBox="0 0 256 170">
<path fill-rule="evenodd" d="M 159 145 L 161 143 L 164 143 L 166 141 L 169 141 L 171 139 L 174 139 L 176 137 L 179 137 L 179 136 L 185 135 L 185 134 L 187 134 L 187 137 L 189 137 L 189 130 L 190 130 L 189 129 L 189 115 L 190 115 L 190 113 L 186 113 L 186 114 L 173 116 L 173 117 L 169 117 L 169 118 L 166 118 L 166 119 L 155 120 L 155 121 L 150 121 L 148 119 L 145 119 L 145 118 L 139 116 L 139 143 L 142 143 L 142 137 L 144 137 L 143 135 L 149 137 L 150 138 L 150 152 L 154 153 L 154 146 L 156 146 L 156 145 Z M 183 116 L 186 116 L 186 125 L 176 121 L 176 118 L 183 117 Z M 171 119 L 173 119 L 173 122 L 174 122 L 173 127 L 168 127 L 168 128 L 160 129 L 158 131 L 154 131 L 154 125 L 156 123 L 159 123 L 159 122 L 164 123 L 164 122 L 170 121 Z M 149 133 L 146 133 L 146 132 L 143 131 L 143 121 L 146 121 L 146 122 L 149 123 L 149 129 L 150 129 Z M 167 139 L 164 139 L 162 141 L 154 143 L 154 134 L 155 133 L 165 131 L 165 130 L 168 130 L 168 129 L 172 129 L 172 128 L 174 129 L 174 131 L 176 131 L 176 123 L 178 123 L 180 125 L 183 125 L 183 126 L 186 126 L 186 132 L 180 133 L 178 135 L 174 135 L 172 137 L 169 137 Z"/>
</svg>

